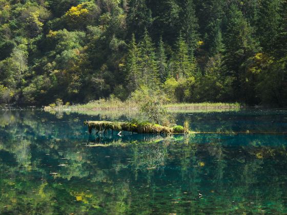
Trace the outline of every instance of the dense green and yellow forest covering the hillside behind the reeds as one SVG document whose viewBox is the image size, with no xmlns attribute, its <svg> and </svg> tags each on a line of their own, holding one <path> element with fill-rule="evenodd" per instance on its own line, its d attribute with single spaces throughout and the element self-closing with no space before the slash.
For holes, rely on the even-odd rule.
<svg viewBox="0 0 287 215">
<path fill-rule="evenodd" d="M 0 103 L 287 105 L 286 0 L 0 0 Z"/>
</svg>

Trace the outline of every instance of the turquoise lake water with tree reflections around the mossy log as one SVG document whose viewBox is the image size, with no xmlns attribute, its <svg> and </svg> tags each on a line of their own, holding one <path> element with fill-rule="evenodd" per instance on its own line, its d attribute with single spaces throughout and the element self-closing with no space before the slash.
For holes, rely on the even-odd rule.
<svg viewBox="0 0 287 215">
<path fill-rule="evenodd" d="M 251 133 L 97 136 L 83 121 L 129 117 L 2 111 L 0 213 L 287 213 L 287 111 L 173 117 Z"/>
</svg>

